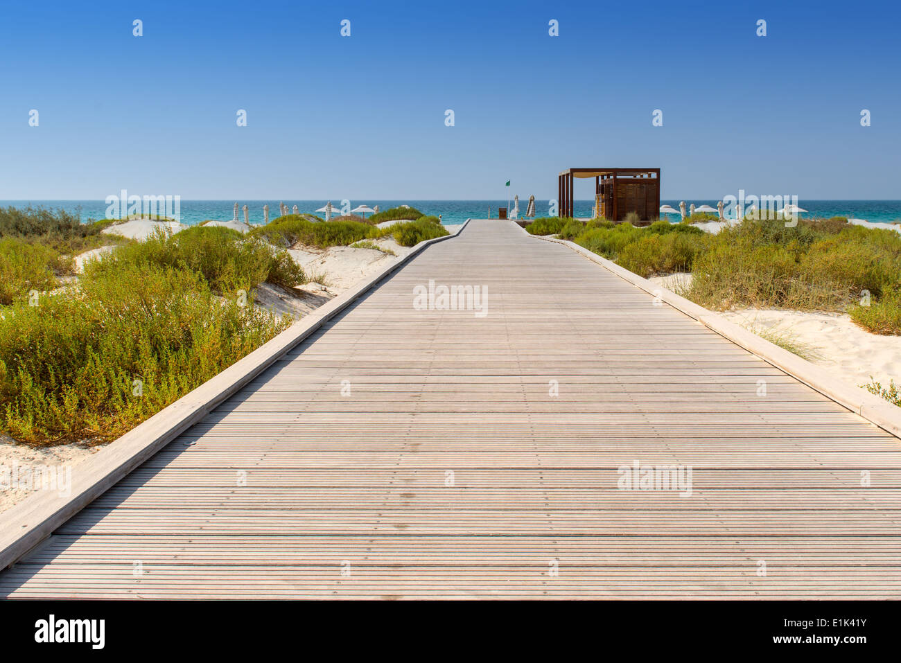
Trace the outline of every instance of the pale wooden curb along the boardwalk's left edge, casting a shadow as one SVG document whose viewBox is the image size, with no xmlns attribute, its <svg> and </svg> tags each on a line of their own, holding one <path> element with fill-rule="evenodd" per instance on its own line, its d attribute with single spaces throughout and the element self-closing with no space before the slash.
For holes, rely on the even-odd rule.
<svg viewBox="0 0 901 663">
<path fill-rule="evenodd" d="M 222 373 L 110 442 L 94 456 L 78 463 L 72 473 L 71 491 L 67 497 L 59 497 L 57 491 L 38 491 L 0 514 L 0 569 L 11 567 L 22 559 L 60 525 L 103 495 L 182 432 L 200 422 L 218 404 L 250 383 L 288 350 L 319 329 L 323 322 L 341 313 L 360 295 L 364 295 L 380 280 L 401 268 L 427 246 L 457 237 L 468 223 L 469 219 L 450 235 L 420 242 L 374 277 L 305 315 L 274 339 L 225 368 Z"/>
</svg>

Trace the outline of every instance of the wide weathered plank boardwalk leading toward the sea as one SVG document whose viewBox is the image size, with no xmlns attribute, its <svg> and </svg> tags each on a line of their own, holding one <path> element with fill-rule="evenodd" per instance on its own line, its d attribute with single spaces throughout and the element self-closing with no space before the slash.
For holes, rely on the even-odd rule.
<svg viewBox="0 0 901 663">
<path fill-rule="evenodd" d="M 487 287 L 487 314 L 414 309 L 430 279 Z M 620 489 L 636 462 L 691 468 L 691 495 Z M 569 248 L 476 221 L 0 595 L 898 598 L 899 543 L 899 440 Z"/>
</svg>

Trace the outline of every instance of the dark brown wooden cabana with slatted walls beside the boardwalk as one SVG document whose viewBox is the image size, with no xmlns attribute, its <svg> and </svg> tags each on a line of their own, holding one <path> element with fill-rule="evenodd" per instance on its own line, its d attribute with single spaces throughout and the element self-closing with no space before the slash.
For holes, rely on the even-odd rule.
<svg viewBox="0 0 901 663">
<path fill-rule="evenodd" d="M 573 215 L 573 180 L 595 178 L 595 204 L 609 221 L 634 212 L 642 221 L 660 215 L 660 168 L 567 168 L 557 179 L 558 215 Z"/>
</svg>

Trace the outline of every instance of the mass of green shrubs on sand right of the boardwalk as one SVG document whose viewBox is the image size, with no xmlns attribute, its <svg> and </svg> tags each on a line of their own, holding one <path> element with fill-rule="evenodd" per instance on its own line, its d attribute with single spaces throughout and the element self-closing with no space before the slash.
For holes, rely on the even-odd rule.
<svg viewBox="0 0 901 663">
<path fill-rule="evenodd" d="M 570 226 L 567 239 L 576 230 Z M 716 234 L 688 223 L 589 222 L 573 241 L 642 277 L 691 272 L 683 295 L 713 310 L 847 311 L 871 332 L 901 329 L 901 236 L 843 217 L 788 226 L 746 219 Z"/>
</svg>

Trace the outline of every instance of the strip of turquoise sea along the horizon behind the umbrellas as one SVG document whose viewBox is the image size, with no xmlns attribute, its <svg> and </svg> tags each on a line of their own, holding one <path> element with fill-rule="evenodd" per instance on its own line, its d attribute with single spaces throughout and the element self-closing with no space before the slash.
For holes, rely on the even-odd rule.
<svg viewBox="0 0 901 663">
<path fill-rule="evenodd" d="M 246 204 L 250 214 L 250 223 L 262 223 L 263 221 L 263 205 L 269 206 L 269 218 L 274 219 L 278 216 L 278 204 L 283 202 L 288 207 L 297 205 L 301 212 L 313 212 L 326 203 L 324 200 L 182 200 L 181 201 L 181 223 L 194 224 L 201 223 L 207 219 L 217 221 L 229 221 L 232 219 L 232 211 L 235 203 L 239 207 Z M 678 200 L 664 200 L 661 204 L 669 204 L 678 209 Z M 692 203 L 696 206 L 709 204 L 716 206 L 715 200 L 687 200 L 686 204 Z M 340 201 L 332 200 L 332 204 L 339 204 Z M 51 209 L 62 208 L 70 213 L 79 213 L 81 219 L 104 219 L 106 218 L 107 204 L 98 200 L 5 200 L 0 201 L 0 206 L 23 207 L 27 205 L 34 207 L 42 206 Z M 505 207 L 506 200 L 354 200 L 351 201 L 350 207 L 356 207 L 359 204 L 369 205 L 373 207 L 378 204 L 379 209 L 386 210 L 389 207 L 396 207 L 399 204 L 412 205 L 424 213 L 441 214 L 441 221 L 445 224 L 463 223 L 468 218 L 484 219 L 487 217 L 488 210 L 491 210 L 491 218 L 497 218 L 497 208 Z M 849 218 L 863 219 L 874 223 L 899 223 L 901 222 L 901 200 L 799 200 L 798 204 L 807 210 L 807 213 L 801 213 L 802 217 L 829 217 L 829 216 L 847 216 Z M 575 204 L 576 216 L 587 217 L 591 213 L 594 201 L 577 200 Z M 526 201 L 520 200 L 520 215 L 525 213 Z M 547 216 L 549 204 L 548 201 L 536 201 L 535 209 L 537 216 Z M 318 214 L 322 216 L 322 213 Z M 239 214 L 243 219 L 243 213 Z M 678 216 L 671 215 L 670 220 L 678 220 Z"/>
</svg>

